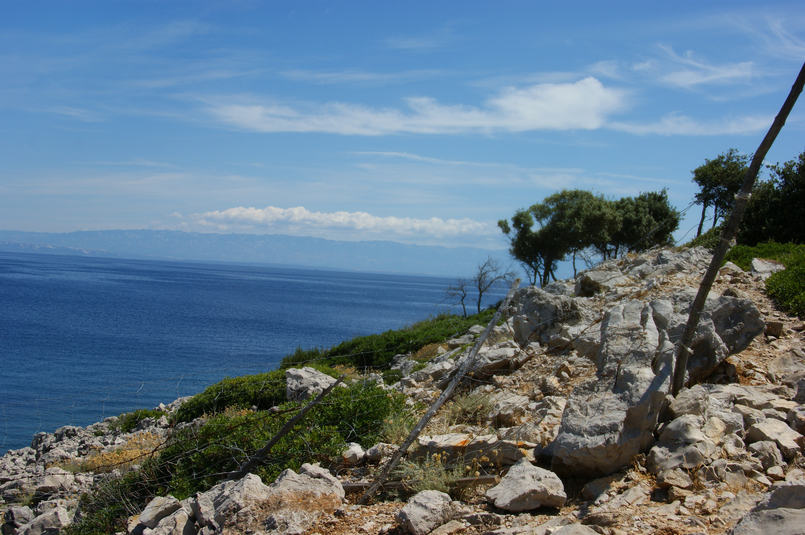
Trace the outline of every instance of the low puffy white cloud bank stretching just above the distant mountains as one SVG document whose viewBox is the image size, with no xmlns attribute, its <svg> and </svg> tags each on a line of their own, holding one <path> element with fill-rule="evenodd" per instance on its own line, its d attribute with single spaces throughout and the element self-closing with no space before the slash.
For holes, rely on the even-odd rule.
<svg viewBox="0 0 805 535">
<path fill-rule="evenodd" d="M 179 216 L 174 213 L 171 216 Z M 492 224 L 470 220 L 414 219 L 411 217 L 378 217 L 366 212 L 311 212 L 307 208 L 229 208 L 219 212 L 196 213 L 188 216 L 196 224 L 221 230 L 230 227 L 264 228 L 315 233 L 316 231 L 354 231 L 360 234 L 388 237 L 443 238 L 458 236 L 488 236 L 496 228 Z"/>
</svg>

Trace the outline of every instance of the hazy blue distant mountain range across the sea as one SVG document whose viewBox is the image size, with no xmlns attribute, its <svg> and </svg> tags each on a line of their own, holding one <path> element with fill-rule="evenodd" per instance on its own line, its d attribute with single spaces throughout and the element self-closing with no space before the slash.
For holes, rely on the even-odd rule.
<svg viewBox="0 0 805 535">
<path fill-rule="evenodd" d="M 334 241 L 283 234 L 184 233 L 175 230 L 96 230 L 74 233 L 0 231 L 0 251 L 283 264 L 341 270 L 457 276 L 473 274 L 490 253 L 475 247 L 406 245 L 396 241 Z"/>
</svg>

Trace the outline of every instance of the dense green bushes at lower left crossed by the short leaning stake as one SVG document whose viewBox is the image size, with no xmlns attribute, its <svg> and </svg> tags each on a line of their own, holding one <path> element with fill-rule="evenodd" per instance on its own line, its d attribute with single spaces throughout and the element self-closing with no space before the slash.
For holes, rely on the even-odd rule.
<svg viewBox="0 0 805 535">
<path fill-rule="evenodd" d="M 153 496 L 171 494 L 183 499 L 204 492 L 263 447 L 301 406 L 286 401 L 277 412 L 253 412 L 237 408 L 238 403 L 242 401 L 207 418 L 197 429 L 172 434 L 158 457 L 84 496 L 81 520 L 65 533 L 125 531 L 126 518 L 132 514 L 127 505 L 139 510 Z M 340 457 L 345 442 L 359 440 L 369 447 L 393 439 L 397 428 L 407 423 L 403 420 L 413 418 L 402 394 L 363 383 L 336 389 L 279 441 L 254 473 L 270 482 L 286 468 L 298 471 L 303 463 L 326 465 Z"/>
</svg>

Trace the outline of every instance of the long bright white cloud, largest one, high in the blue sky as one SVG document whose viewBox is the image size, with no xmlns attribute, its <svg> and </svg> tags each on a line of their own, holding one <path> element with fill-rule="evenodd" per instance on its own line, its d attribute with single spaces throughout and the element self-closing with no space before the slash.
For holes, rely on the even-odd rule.
<svg viewBox="0 0 805 535">
<path fill-rule="evenodd" d="M 458 134 L 527 130 L 594 130 L 624 109 L 625 92 L 606 88 L 596 78 L 567 84 L 506 88 L 483 108 L 442 105 L 430 97 L 406 99 L 409 113 L 365 105 L 246 104 L 209 101 L 218 120 L 256 132 L 328 132 L 332 134 Z"/>
</svg>

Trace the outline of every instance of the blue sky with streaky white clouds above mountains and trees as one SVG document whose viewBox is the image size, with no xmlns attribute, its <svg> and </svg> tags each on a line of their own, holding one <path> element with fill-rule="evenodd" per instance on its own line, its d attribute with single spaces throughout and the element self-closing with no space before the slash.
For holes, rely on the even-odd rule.
<svg viewBox="0 0 805 535">
<path fill-rule="evenodd" d="M 803 2 L 2 2 L 0 228 L 503 249 L 562 187 L 685 208 L 803 60 Z"/>
</svg>

